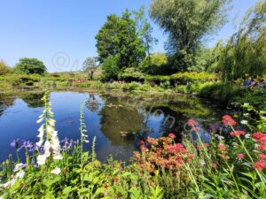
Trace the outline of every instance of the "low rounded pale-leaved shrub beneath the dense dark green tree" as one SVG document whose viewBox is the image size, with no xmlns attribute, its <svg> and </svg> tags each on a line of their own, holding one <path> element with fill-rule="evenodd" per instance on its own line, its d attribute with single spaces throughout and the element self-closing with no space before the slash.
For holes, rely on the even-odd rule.
<svg viewBox="0 0 266 199">
<path fill-rule="evenodd" d="M 144 79 L 145 79 L 144 73 L 141 73 L 136 68 L 126 68 L 119 74 L 119 80 L 143 81 Z"/>
</svg>

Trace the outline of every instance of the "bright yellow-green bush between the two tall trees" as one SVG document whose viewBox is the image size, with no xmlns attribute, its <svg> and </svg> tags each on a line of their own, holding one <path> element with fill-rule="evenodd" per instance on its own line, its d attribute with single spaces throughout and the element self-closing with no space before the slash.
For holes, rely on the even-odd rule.
<svg viewBox="0 0 266 199">
<path fill-rule="evenodd" d="M 166 73 L 168 57 L 162 52 L 153 53 L 140 64 L 140 69 L 147 74 L 158 75 Z"/>
</svg>

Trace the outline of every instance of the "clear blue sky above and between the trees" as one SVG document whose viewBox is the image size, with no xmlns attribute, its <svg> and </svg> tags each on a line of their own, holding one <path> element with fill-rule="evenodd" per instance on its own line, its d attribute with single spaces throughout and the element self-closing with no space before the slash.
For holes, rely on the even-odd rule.
<svg viewBox="0 0 266 199">
<path fill-rule="evenodd" d="M 49 72 L 82 68 L 86 57 L 97 56 L 95 35 L 110 13 L 126 8 L 149 7 L 152 0 L 0 0 L 0 59 L 15 65 L 20 57 L 36 57 Z M 235 24 L 257 0 L 233 0 L 229 22 L 213 36 L 226 40 L 236 32 Z M 237 19 L 236 19 L 237 16 Z M 153 51 L 164 51 L 167 36 L 153 24 L 159 39 Z"/>
</svg>

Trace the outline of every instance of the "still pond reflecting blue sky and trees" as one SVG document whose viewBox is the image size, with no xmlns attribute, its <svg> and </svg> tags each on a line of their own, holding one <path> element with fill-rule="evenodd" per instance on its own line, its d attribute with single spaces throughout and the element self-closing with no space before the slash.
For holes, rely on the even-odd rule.
<svg viewBox="0 0 266 199">
<path fill-rule="evenodd" d="M 0 94 L 0 162 L 14 155 L 10 143 L 21 138 L 37 142 L 36 124 L 43 111 L 43 92 L 21 91 Z M 144 95 L 123 92 L 86 93 L 51 92 L 52 111 L 55 114 L 59 139 L 77 140 L 81 104 L 89 135 L 90 150 L 96 136 L 98 159 L 105 161 L 109 155 L 115 159 L 129 160 L 139 142 L 147 136 L 159 137 L 173 132 L 181 139 L 186 122 L 193 118 L 207 129 L 221 118 L 222 110 L 193 96 Z"/>
</svg>

